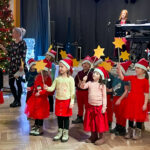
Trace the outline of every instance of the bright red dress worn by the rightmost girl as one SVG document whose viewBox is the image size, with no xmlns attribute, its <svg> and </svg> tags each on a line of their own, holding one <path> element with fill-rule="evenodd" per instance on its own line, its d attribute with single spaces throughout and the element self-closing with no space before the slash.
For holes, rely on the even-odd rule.
<svg viewBox="0 0 150 150">
<path fill-rule="evenodd" d="M 126 76 L 124 81 L 131 82 L 131 91 L 127 97 L 125 118 L 136 121 L 144 122 L 148 120 L 148 111 L 143 111 L 145 101 L 144 93 L 149 93 L 149 81 L 147 79 L 138 79 L 137 76 Z"/>
</svg>

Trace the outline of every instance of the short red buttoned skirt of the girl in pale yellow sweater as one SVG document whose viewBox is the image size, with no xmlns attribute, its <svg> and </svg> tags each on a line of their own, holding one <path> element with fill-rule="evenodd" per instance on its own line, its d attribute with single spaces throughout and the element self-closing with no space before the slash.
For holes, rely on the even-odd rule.
<svg viewBox="0 0 150 150">
<path fill-rule="evenodd" d="M 58 100 L 55 102 L 55 115 L 62 117 L 72 116 L 72 109 L 69 108 L 70 99 L 68 100 Z"/>
</svg>

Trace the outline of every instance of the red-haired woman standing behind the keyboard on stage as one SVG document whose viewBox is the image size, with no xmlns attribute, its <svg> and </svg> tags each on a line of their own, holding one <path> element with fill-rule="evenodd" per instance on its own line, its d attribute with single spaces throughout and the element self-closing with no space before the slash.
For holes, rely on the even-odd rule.
<svg viewBox="0 0 150 150">
<path fill-rule="evenodd" d="M 126 9 L 123 9 L 120 13 L 119 20 L 116 22 L 116 24 L 128 24 L 130 21 L 128 20 L 128 11 Z M 115 27 L 115 37 L 121 37 L 123 42 L 125 43 L 122 46 L 122 51 L 127 50 L 129 52 L 130 50 L 130 42 L 126 40 L 126 35 L 128 35 L 129 32 L 122 28 Z M 115 56 L 118 56 L 117 49 L 115 49 Z"/>
</svg>

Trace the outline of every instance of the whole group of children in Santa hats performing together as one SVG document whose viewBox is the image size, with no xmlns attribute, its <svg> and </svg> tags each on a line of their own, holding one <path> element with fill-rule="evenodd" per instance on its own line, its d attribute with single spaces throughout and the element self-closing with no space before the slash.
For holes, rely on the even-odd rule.
<svg viewBox="0 0 150 150">
<path fill-rule="evenodd" d="M 149 81 L 146 59 L 142 58 L 135 64 L 136 75 L 125 76 L 131 65 L 130 61 L 117 64 L 116 72 L 112 73 L 99 67 L 102 59 L 86 56 L 82 60 L 82 70 L 73 78 L 73 57 L 68 54 L 67 58 L 60 60 L 59 75 L 52 80 L 52 60 L 55 56 L 54 50 L 46 53 L 43 60 L 46 66 L 40 73 L 35 69 L 35 60 L 28 61 L 25 113 L 28 118 L 35 120 L 30 135 L 43 134 L 43 121 L 50 115 L 48 97 L 52 97 L 56 92 L 55 115 L 58 132 L 53 138 L 54 141 L 67 142 L 69 139 L 69 124 L 75 97 L 78 114 L 72 123 L 83 123 L 84 131 L 91 133 L 85 142 L 101 145 L 105 142 L 103 133 L 107 131 L 126 139 L 142 138 L 142 125 L 148 120 Z M 115 66 L 112 60 L 107 62 L 112 67 Z M 111 129 L 113 113 L 116 126 Z"/>
</svg>

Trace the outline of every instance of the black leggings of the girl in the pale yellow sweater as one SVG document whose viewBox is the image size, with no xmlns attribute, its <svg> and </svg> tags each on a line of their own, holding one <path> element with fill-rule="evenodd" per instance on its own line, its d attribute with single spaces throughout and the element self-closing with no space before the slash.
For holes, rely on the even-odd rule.
<svg viewBox="0 0 150 150">
<path fill-rule="evenodd" d="M 57 117 L 58 127 L 61 129 L 69 129 L 69 117 Z"/>
</svg>

